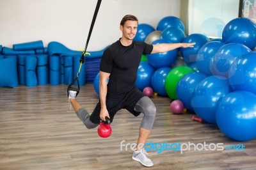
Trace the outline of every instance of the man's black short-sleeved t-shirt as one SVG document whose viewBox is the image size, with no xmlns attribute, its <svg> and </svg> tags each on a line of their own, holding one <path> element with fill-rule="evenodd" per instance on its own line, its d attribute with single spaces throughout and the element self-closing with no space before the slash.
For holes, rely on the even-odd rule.
<svg viewBox="0 0 256 170">
<path fill-rule="evenodd" d="M 124 46 L 120 40 L 108 47 L 100 61 L 100 71 L 110 73 L 108 97 L 118 98 L 135 86 L 142 54 L 150 54 L 153 45 L 145 42 L 132 42 Z"/>
</svg>

